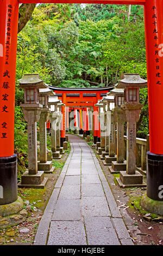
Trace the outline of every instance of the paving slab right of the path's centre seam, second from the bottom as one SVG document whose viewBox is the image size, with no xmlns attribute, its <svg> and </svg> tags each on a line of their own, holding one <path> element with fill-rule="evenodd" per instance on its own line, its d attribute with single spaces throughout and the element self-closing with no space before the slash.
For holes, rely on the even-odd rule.
<svg viewBox="0 0 163 256">
<path fill-rule="evenodd" d="M 83 216 L 110 216 L 108 203 L 105 197 L 83 197 Z"/>
</svg>

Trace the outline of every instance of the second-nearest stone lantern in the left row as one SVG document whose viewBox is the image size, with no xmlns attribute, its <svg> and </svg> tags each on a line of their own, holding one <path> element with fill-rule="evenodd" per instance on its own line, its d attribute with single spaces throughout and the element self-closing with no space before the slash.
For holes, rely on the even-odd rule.
<svg viewBox="0 0 163 256">
<path fill-rule="evenodd" d="M 38 170 L 43 170 L 45 173 L 53 173 L 52 161 L 47 161 L 47 130 L 46 122 L 49 120 L 48 97 L 54 95 L 53 90 L 49 88 L 39 89 L 39 100 L 43 106 L 40 114 L 40 161 L 38 162 Z"/>
</svg>

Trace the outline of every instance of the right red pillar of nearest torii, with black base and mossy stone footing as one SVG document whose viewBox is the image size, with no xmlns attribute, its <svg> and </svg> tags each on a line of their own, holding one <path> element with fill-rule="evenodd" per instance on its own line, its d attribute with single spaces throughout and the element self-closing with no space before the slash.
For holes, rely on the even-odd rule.
<svg viewBox="0 0 163 256">
<path fill-rule="evenodd" d="M 142 199 L 143 208 L 160 215 L 163 214 L 162 6 L 163 0 L 148 0 L 145 4 L 150 151 L 147 153 L 147 196 Z"/>
</svg>

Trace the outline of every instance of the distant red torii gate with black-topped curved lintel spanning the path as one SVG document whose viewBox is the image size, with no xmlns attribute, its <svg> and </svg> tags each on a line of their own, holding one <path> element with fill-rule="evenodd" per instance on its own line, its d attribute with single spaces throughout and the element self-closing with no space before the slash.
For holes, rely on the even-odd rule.
<svg viewBox="0 0 163 256">
<path fill-rule="evenodd" d="M 98 113 L 98 107 L 95 106 L 98 100 L 101 100 L 106 93 L 110 91 L 110 89 L 113 88 L 113 86 L 110 87 L 104 87 L 104 88 L 59 88 L 59 87 L 50 87 L 52 90 L 54 90 L 55 94 L 59 97 L 60 100 L 65 104 L 65 106 L 62 107 L 62 124 L 61 124 L 61 147 L 62 143 L 66 140 L 65 138 L 65 130 L 66 130 L 66 124 L 65 124 L 65 107 L 70 107 L 71 109 L 74 109 L 74 111 L 77 111 L 77 109 L 83 109 L 85 112 L 87 110 L 85 108 L 92 107 L 93 113 L 95 114 L 95 117 L 93 118 L 93 135 L 94 135 L 94 142 L 96 143 L 97 140 L 100 139 L 100 130 L 96 129 L 96 126 L 98 125 L 98 119 L 97 119 L 97 113 Z M 81 113 L 82 114 L 82 113 Z M 74 126 L 76 125 L 76 113 L 74 113 L 75 122 Z M 67 117 L 68 118 L 68 117 Z M 84 131 L 89 131 L 89 120 L 88 120 L 88 113 L 86 113 L 85 116 L 85 127 Z M 80 121 L 80 119 L 79 119 Z M 81 122 L 80 122 L 81 124 Z M 81 128 L 81 127 L 79 127 Z M 99 125 L 98 125 L 99 128 Z M 99 139 L 97 139 L 99 138 Z"/>
</svg>

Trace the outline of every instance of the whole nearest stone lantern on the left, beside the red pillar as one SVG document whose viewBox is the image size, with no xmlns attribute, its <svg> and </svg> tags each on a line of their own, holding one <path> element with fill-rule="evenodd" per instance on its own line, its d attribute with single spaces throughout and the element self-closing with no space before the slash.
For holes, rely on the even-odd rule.
<svg viewBox="0 0 163 256">
<path fill-rule="evenodd" d="M 47 178 L 37 168 L 37 121 L 43 107 L 39 102 L 39 89 L 47 88 L 47 85 L 39 74 L 23 75 L 19 82 L 24 89 L 24 104 L 21 108 L 28 127 L 28 171 L 23 173 L 18 186 L 44 188 Z"/>
</svg>

